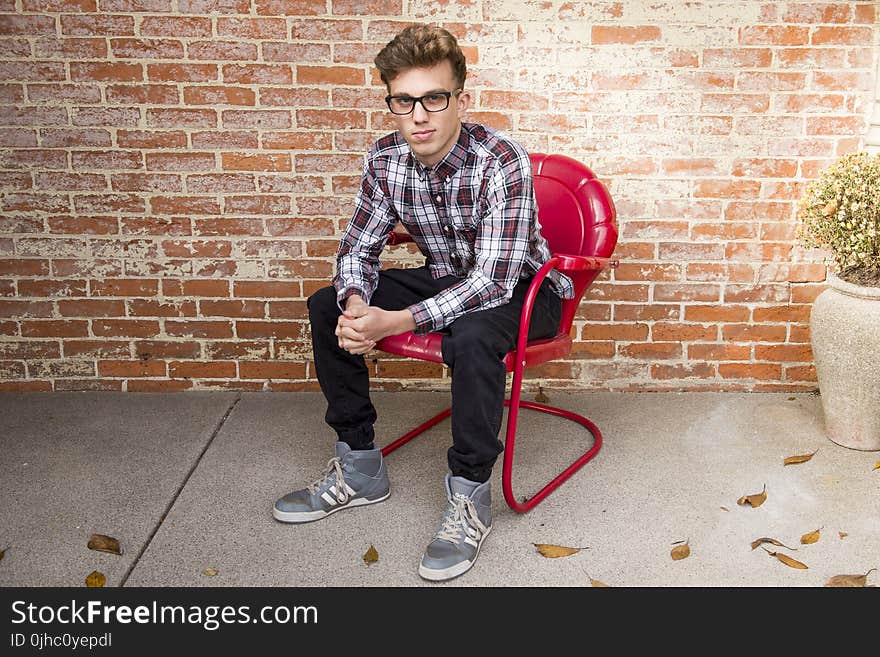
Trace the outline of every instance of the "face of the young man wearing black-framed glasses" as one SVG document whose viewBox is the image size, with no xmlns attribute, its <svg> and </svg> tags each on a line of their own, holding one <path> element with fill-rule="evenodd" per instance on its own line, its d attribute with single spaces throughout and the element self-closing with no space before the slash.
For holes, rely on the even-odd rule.
<svg viewBox="0 0 880 657">
<path fill-rule="evenodd" d="M 458 91 L 448 60 L 430 68 L 411 68 L 398 74 L 388 85 L 391 96 L 418 98 L 433 92 Z M 449 107 L 428 112 L 415 103 L 410 114 L 392 114 L 394 124 L 419 162 L 432 167 L 452 150 L 461 130 L 461 116 L 470 104 L 470 94 L 461 92 L 449 98 Z"/>
</svg>

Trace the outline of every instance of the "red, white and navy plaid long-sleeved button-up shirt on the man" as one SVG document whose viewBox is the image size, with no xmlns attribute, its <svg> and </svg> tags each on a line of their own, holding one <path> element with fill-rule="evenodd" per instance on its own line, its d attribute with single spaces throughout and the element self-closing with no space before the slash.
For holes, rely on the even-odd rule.
<svg viewBox="0 0 880 657">
<path fill-rule="evenodd" d="M 398 132 L 373 145 L 339 244 L 333 285 L 340 308 L 352 294 L 370 302 L 379 255 L 398 221 L 434 278 L 459 277 L 408 308 L 418 334 L 506 303 L 519 280 L 533 276 L 551 257 L 538 222 L 528 153 L 478 124 L 463 123 L 452 150 L 430 169 Z M 548 278 L 559 296 L 574 296 L 567 276 L 553 270 Z"/>
</svg>

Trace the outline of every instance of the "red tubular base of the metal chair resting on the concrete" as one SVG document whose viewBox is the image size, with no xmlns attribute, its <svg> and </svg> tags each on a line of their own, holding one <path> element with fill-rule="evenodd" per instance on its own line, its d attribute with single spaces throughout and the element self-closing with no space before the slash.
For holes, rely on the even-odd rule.
<svg viewBox="0 0 880 657">
<path fill-rule="evenodd" d="M 560 408 L 555 408 L 553 406 L 538 404 L 536 402 L 522 401 L 520 399 L 519 387 L 514 389 L 510 399 L 504 400 L 504 405 L 507 406 L 509 410 L 507 415 L 507 435 L 504 443 L 504 461 L 502 464 L 501 487 L 504 491 L 504 500 L 507 502 L 507 505 L 518 513 L 525 513 L 526 511 L 529 511 L 530 509 L 535 507 L 541 500 L 547 497 L 547 495 L 558 488 L 562 482 L 564 482 L 571 475 L 577 472 L 581 467 L 583 467 L 583 465 L 587 461 L 589 461 L 596 455 L 596 452 L 598 452 L 599 448 L 602 446 L 602 433 L 599 431 L 599 427 L 597 427 L 595 424 L 593 424 L 593 422 L 583 417 L 582 415 L 578 415 L 577 413 L 572 413 L 570 411 L 566 411 Z M 589 450 L 587 450 L 580 457 L 575 459 L 571 463 L 571 465 L 569 465 L 567 468 L 565 468 L 565 470 L 554 477 L 541 490 L 532 495 L 532 497 L 527 498 L 522 502 L 518 502 L 516 497 L 514 496 L 513 485 L 511 483 L 513 473 L 513 455 L 516 443 L 516 425 L 520 408 L 539 411 L 541 413 L 547 413 L 549 415 L 556 415 L 558 417 L 563 417 L 567 420 L 577 422 L 578 424 L 585 427 L 587 431 L 589 431 L 593 436 L 593 446 Z M 405 445 L 416 436 L 424 433 L 436 424 L 439 424 L 440 422 L 448 418 L 451 414 L 451 408 L 447 408 L 441 411 L 434 417 L 426 420 L 425 422 L 417 426 L 415 429 L 408 431 L 394 442 L 391 442 L 383 447 L 381 450 L 382 455 L 387 456 L 398 447 Z"/>
</svg>

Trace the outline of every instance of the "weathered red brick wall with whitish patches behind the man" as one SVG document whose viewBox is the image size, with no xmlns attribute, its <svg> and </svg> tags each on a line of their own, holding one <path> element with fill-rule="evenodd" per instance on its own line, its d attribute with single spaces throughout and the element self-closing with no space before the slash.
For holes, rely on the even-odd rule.
<svg viewBox="0 0 880 657">
<path fill-rule="evenodd" d="M 316 389 L 372 57 L 459 36 L 470 118 L 590 164 L 619 269 L 530 385 L 814 389 L 804 181 L 861 146 L 873 2 L 0 0 L 0 390 Z M 412 256 L 398 252 L 397 261 Z M 441 366 L 371 359 L 376 385 Z"/>
</svg>

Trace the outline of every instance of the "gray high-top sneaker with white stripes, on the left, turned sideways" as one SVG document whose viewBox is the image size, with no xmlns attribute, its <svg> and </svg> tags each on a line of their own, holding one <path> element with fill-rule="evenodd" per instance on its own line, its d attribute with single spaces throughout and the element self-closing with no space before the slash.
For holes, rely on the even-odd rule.
<svg viewBox="0 0 880 657">
<path fill-rule="evenodd" d="M 350 506 L 381 502 L 389 495 L 391 485 L 379 448 L 352 450 L 337 442 L 336 456 L 327 462 L 324 475 L 275 502 L 272 515 L 281 522 L 311 522 Z"/>
</svg>

